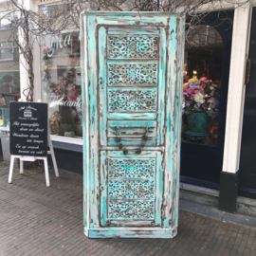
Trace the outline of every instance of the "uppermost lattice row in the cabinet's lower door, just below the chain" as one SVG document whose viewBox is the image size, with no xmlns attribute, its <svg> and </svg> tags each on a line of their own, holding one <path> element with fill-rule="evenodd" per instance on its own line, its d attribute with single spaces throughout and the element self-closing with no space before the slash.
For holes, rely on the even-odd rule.
<svg viewBox="0 0 256 256">
<path fill-rule="evenodd" d="M 108 159 L 109 178 L 154 178 L 155 159 Z"/>
</svg>

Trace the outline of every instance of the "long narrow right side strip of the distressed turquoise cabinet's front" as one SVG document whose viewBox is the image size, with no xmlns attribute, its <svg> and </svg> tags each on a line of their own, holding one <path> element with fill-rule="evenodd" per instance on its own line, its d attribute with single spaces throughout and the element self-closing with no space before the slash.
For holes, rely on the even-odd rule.
<svg viewBox="0 0 256 256">
<path fill-rule="evenodd" d="M 166 137 L 165 137 L 165 174 L 164 174 L 164 204 L 163 227 L 170 229 L 174 222 L 174 191 L 176 180 L 177 137 L 175 135 L 178 110 L 175 109 L 177 93 L 177 34 L 176 17 L 171 16 L 168 35 L 168 72 L 166 84 Z M 176 99 L 177 98 L 177 99 Z"/>
</svg>

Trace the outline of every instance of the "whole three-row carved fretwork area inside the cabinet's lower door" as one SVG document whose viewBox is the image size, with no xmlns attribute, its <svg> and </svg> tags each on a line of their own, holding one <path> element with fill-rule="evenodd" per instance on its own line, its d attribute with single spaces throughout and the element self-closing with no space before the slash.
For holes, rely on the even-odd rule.
<svg viewBox="0 0 256 256">
<path fill-rule="evenodd" d="M 108 158 L 108 196 L 110 219 L 152 219 L 155 158 Z"/>
</svg>

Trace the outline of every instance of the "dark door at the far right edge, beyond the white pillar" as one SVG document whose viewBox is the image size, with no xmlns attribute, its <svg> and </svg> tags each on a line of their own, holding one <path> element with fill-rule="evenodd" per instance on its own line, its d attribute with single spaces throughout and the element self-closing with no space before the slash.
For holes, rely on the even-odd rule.
<svg viewBox="0 0 256 256">
<path fill-rule="evenodd" d="M 251 61 L 249 83 L 246 85 L 240 157 L 240 195 L 256 198 L 256 9 L 252 22 L 248 58 Z"/>
</svg>

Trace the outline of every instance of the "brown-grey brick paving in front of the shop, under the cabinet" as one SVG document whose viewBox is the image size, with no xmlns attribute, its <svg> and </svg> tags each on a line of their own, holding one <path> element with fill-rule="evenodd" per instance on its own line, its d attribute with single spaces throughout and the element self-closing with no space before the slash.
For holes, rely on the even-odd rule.
<svg viewBox="0 0 256 256">
<path fill-rule="evenodd" d="M 82 175 L 0 168 L 0 255 L 256 255 L 256 229 L 179 213 L 174 239 L 88 239 L 82 227 Z"/>
</svg>

